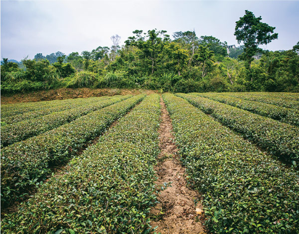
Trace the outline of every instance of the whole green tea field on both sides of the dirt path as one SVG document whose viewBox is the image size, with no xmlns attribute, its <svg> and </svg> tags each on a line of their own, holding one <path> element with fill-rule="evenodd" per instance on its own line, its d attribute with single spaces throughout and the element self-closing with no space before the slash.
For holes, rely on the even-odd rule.
<svg viewBox="0 0 299 234">
<path fill-rule="evenodd" d="M 1 232 L 154 233 L 161 101 L 207 233 L 299 233 L 299 94 L 262 92 L 1 105 Z"/>
</svg>

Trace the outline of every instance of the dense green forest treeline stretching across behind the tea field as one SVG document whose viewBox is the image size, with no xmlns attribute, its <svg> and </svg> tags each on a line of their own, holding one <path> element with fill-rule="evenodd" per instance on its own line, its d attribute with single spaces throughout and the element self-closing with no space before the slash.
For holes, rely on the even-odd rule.
<svg viewBox="0 0 299 234">
<path fill-rule="evenodd" d="M 99 46 L 81 54 L 61 52 L 21 65 L 3 59 L 1 93 L 61 87 L 144 88 L 161 92 L 299 92 L 298 44 L 287 51 L 260 51 L 261 59 L 242 59 L 244 46 L 231 48 L 194 31 L 135 30 L 120 46 Z M 242 53 L 243 52 L 243 53 Z M 248 56 L 247 56 L 248 57 Z"/>
</svg>

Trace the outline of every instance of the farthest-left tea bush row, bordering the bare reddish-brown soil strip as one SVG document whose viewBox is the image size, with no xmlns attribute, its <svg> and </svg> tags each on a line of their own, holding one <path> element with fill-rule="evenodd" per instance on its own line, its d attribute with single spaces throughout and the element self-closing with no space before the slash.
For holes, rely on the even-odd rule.
<svg viewBox="0 0 299 234">
<path fill-rule="evenodd" d="M 78 98 L 84 101 L 86 98 Z M 37 111 L 42 109 L 48 109 L 57 105 L 65 105 L 72 103 L 77 99 L 65 99 L 65 100 L 53 100 L 53 101 L 41 101 L 41 102 L 25 102 L 1 105 L 1 119 L 13 115 L 23 114 L 30 111 Z"/>
</svg>

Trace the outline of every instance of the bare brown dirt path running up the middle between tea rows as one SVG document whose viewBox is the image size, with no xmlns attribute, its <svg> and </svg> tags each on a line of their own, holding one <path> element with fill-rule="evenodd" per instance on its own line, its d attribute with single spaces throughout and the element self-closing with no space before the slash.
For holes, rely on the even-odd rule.
<svg viewBox="0 0 299 234">
<path fill-rule="evenodd" d="M 203 220 L 201 204 L 195 205 L 200 195 L 186 187 L 184 179 L 185 169 L 180 165 L 176 152 L 178 149 L 174 144 L 172 124 L 169 113 L 162 98 L 161 122 L 159 128 L 160 149 L 158 165 L 155 167 L 158 180 L 157 188 L 164 183 L 171 186 L 158 194 L 159 203 L 151 209 L 151 227 L 158 226 L 156 233 L 161 234 L 203 234 L 206 233 Z"/>
</svg>

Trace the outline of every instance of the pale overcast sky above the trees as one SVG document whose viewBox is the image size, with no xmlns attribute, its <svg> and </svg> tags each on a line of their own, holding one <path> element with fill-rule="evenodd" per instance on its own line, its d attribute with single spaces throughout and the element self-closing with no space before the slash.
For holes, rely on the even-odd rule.
<svg viewBox="0 0 299 234">
<path fill-rule="evenodd" d="M 1 0 L 1 58 L 110 47 L 112 35 L 119 34 L 123 44 L 135 29 L 170 35 L 194 29 L 197 36 L 237 45 L 235 22 L 246 9 L 279 33 L 262 48 L 288 50 L 299 41 L 299 1 Z"/>
</svg>

